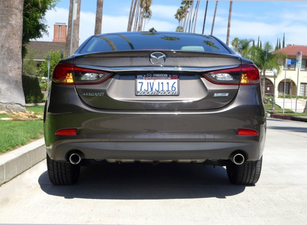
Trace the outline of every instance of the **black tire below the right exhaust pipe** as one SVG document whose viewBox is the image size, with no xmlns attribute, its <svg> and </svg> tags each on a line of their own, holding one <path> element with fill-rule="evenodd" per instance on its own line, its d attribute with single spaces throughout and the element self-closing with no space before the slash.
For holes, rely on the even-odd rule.
<svg viewBox="0 0 307 225">
<path fill-rule="evenodd" d="M 239 185 L 253 185 L 259 180 L 262 166 L 262 157 L 258 161 L 248 161 L 241 165 L 226 166 L 227 175 L 231 183 Z"/>
</svg>

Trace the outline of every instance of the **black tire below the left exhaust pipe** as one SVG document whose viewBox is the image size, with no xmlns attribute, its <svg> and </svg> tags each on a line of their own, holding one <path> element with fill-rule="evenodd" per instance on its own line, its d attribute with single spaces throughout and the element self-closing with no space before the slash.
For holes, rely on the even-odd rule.
<svg viewBox="0 0 307 225">
<path fill-rule="evenodd" d="M 49 158 L 47 154 L 47 170 L 49 180 L 54 185 L 73 185 L 77 183 L 80 165 L 70 162 L 60 162 Z"/>
</svg>

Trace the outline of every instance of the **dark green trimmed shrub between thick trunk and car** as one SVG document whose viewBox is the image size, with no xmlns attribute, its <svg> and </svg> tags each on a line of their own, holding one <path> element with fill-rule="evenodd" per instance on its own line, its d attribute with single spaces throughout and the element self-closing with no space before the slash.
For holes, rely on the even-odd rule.
<svg viewBox="0 0 307 225">
<path fill-rule="evenodd" d="M 22 83 L 26 103 L 39 103 L 44 94 L 41 93 L 38 78 L 30 75 L 22 75 Z"/>
</svg>

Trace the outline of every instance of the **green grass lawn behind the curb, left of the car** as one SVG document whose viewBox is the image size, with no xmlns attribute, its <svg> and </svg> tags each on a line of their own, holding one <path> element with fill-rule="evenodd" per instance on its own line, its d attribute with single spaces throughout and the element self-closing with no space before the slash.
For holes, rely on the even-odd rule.
<svg viewBox="0 0 307 225">
<path fill-rule="evenodd" d="M 26 107 L 35 113 L 43 113 L 44 106 Z M 0 118 L 12 117 L 0 114 Z M 5 121 L 0 120 L 0 153 L 31 142 L 32 139 L 43 137 L 43 121 Z"/>
</svg>

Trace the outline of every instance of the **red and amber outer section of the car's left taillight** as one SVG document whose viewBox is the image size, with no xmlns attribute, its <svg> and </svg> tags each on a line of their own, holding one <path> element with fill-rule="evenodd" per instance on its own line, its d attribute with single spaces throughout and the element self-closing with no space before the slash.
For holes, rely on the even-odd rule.
<svg viewBox="0 0 307 225">
<path fill-rule="evenodd" d="M 57 64 L 53 69 L 52 80 L 57 84 L 74 84 L 72 64 Z"/>
</svg>

